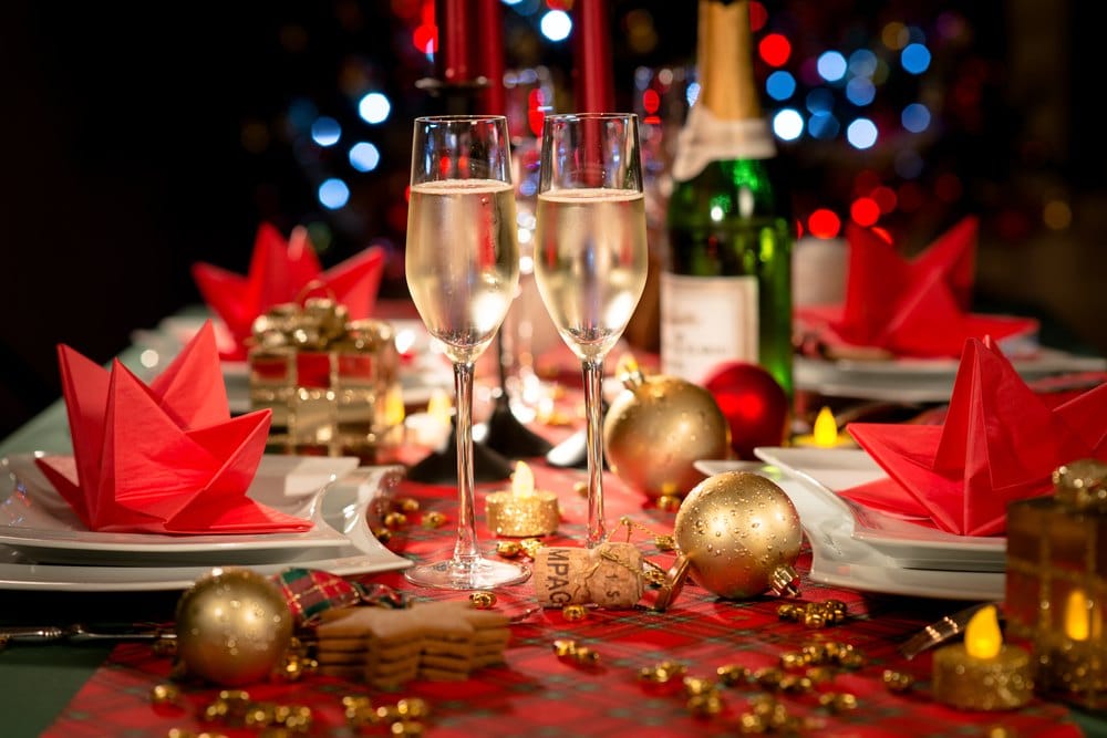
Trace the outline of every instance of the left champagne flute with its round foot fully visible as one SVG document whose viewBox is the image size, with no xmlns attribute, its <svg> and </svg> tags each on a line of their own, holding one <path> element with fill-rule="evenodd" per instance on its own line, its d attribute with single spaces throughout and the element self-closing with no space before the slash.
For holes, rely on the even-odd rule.
<svg viewBox="0 0 1107 738">
<path fill-rule="evenodd" d="M 406 571 L 423 586 L 477 590 L 530 576 L 526 565 L 482 555 L 473 501 L 474 364 L 504 322 L 519 282 L 510 159 L 504 116 L 415 119 L 407 287 L 454 365 L 459 501 L 453 557 Z"/>
</svg>

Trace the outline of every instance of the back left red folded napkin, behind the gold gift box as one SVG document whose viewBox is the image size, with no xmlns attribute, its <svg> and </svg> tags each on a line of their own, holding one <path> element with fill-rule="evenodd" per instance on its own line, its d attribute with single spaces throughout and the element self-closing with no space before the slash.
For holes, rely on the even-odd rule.
<svg viewBox="0 0 1107 738">
<path fill-rule="evenodd" d="M 272 225 L 261 224 L 248 276 L 198 261 L 193 264 L 193 279 L 235 340 L 234 352 L 225 352 L 224 358 L 242 360 L 254 320 L 273 305 L 297 300 L 312 282 L 318 288 L 312 293 L 333 297 L 345 305 L 350 320 L 370 318 L 384 256 L 384 249 L 373 246 L 323 271 L 306 228 L 293 228 L 286 241 Z"/>
</svg>

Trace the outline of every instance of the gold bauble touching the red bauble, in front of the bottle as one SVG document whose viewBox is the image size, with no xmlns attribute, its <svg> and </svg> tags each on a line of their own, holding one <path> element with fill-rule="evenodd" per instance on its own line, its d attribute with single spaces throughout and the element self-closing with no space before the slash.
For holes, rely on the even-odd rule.
<svg viewBox="0 0 1107 738">
<path fill-rule="evenodd" d="M 611 471 L 648 497 L 684 497 L 700 459 L 726 458 L 731 428 L 710 392 L 684 380 L 634 373 L 603 419 Z"/>
</svg>

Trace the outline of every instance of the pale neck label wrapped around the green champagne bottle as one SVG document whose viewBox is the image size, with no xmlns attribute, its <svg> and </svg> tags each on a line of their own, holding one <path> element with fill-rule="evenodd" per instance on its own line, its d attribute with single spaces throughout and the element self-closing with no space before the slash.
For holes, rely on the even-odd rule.
<svg viewBox="0 0 1107 738">
<path fill-rule="evenodd" d="M 770 159 L 776 144 L 764 118 L 726 121 L 693 105 L 676 138 L 673 179 L 687 181 L 715 160 Z"/>
</svg>

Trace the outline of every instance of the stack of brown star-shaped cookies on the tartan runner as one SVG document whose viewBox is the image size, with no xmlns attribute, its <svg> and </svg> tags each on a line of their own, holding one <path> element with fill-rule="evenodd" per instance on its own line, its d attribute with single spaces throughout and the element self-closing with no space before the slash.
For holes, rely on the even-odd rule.
<svg viewBox="0 0 1107 738">
<path fill-rule="evenodd" d="M 416 677 L 467 679 L 501 664 L 510 631 L 506 615 L 455 600 L 329 610 L 315 635 L 322 674 L 391 687 Z"/>
</svg>

